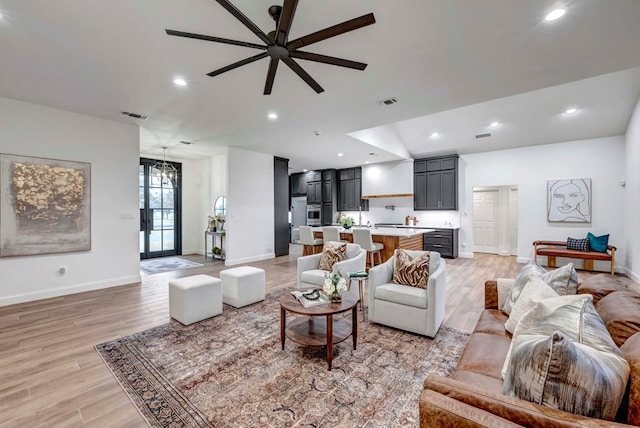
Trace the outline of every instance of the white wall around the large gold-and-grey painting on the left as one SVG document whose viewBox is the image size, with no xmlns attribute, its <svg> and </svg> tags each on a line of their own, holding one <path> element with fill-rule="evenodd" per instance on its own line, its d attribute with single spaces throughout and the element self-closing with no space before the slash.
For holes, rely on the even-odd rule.
<svg viewBox="0 0 640 428">
<path fill-rule="evenodd" d="M 140 281 L 139 150 L 137 126 L 0 97 L 0 152 L 91 163 L 91 250 L 0 259 L 0 305 Z"/>
</svg>

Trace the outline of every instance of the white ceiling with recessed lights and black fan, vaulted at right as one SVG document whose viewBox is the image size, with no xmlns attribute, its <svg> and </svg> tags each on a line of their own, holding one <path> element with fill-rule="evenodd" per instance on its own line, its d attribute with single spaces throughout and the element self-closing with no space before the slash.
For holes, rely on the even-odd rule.
<svg viewBox="0 0 640 428">
<path fill-rule="evenodd" d="M 274 28 L 274 0 L 232 2 Z M 44 5 L 0 0 L 0 96 L 135 123 L 146 155 L 236 146 L 300 171 L 473 153 L 624 134 L 640 97 L 638 0 L 300 0 L 290 39 L 373 12 L 374 25 L 305 48 L 368 67 L 297 60 L 325 92 L 281 66 L 269 96 L 267 59 L 206 75 L 255 50 L 165 34 L 261 43 L 214 0 Z M 567 14 L 545 22 L 559 6 Z"/>
</svg>

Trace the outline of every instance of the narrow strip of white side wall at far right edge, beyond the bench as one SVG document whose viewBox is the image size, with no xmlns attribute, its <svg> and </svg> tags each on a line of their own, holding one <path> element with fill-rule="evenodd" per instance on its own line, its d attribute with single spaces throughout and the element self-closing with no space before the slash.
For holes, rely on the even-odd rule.
<svg viewBox="0 0 640 428">
<path fill-rule="evenodd" d="M 627 128 L 625 141 L 626 181 L 624 193 L 625 234 L 621 237 L 621 246 L 627 249 L 621 263 L 626 264 L 627 275 L 640 281 L 640 100 Z"/>
</svg>

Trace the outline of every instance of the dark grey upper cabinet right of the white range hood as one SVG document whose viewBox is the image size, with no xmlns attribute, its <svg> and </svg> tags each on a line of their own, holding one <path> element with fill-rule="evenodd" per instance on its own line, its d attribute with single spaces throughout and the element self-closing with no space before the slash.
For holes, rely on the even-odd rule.
<svg viewBox="0 0 640 428">
<path fill-rule="evenodd" d="M 416 159 L 413 166 L 414 209 L 458 209 L 458 155 Z"/>
</svg>

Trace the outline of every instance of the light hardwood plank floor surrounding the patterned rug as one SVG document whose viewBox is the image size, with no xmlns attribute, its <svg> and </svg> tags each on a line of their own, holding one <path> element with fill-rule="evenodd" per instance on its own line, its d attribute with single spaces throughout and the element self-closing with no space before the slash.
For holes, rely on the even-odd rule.
<svg viewBox="0 0 640 428">
<path fill-rule="evenodd" d="M 292 245 L 289 256 L 251 265 L 265 269 L 267 291 L 290 287 L 301 253 L 301 246 Z M 225 268 L 200 255 L 184 258 L 204 265 L 143 273 L 140 283 L 107 290 L 0 307 L 0 427 L 146 426 L 94 346 L 167 323 L 169 280 L 218 276 Z M 484 307 L 484 281 L 514 277 L 520 267 L 515 257 L 485 254 L 447 260 L 445 325 L 472 330 Z"/>
</svg>

